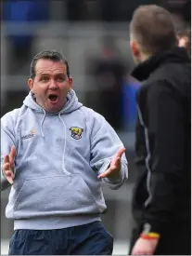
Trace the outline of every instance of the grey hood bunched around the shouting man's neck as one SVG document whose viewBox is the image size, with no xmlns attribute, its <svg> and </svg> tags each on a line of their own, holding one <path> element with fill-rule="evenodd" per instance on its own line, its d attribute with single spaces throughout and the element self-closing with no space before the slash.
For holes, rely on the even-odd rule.
<svg viewBox="0 0 192 256">
<path fill-rule="evenodd" d="M 63 109 L 61 109 L 59 112 L 46 113 L 46 114 L 51 114 L 51 115 L 69 114 L 70 112 L 73 112 L 83 106 L 83 104 L 78 101 L 78 98 L 77 98 L 74 90 L 72 90 L 72 89 L 70 89 L 70 92 L 67 95 L 67 100 L 68 100 L 67 103 L 65 104 Z M 36 112 L 45 113 L 45 110 L 40 105 L 38 105 L 36 103 L 35 96 L 34 96 L 34 94 L 32 94 L 32 92 L 30 92 L 28 94 L 28 96 L 23 101 L 23 104 Z"/>
</svg>

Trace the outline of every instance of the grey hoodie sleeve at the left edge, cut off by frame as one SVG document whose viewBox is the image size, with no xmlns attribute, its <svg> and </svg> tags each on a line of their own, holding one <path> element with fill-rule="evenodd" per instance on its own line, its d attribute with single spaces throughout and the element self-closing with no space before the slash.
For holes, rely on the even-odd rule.
<svg viewBox="0 0 192 256">
<path fill-rule="evenodd" d="M 11 115 L 6 114 L 1 118 L 1 191 L 10 186 L 3 175 L 2 164 L 5 155 L 10 153 L 11 146 L 16 146 L 14 124 Z"/>
</svg>

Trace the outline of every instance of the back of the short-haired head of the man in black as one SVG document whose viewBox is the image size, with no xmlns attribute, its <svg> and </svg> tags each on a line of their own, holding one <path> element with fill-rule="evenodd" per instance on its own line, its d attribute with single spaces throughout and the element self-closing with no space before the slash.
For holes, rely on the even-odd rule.
<svg viewBox="0 0 192 256">
<path fill-rule="evenodd" d="M 130 47 L 134 61 L 146 61 L 150 56 L 176 45 L 172 15 L 163 7 L 141 6 L 134 11 L 130 24 Z"/>
</svg>

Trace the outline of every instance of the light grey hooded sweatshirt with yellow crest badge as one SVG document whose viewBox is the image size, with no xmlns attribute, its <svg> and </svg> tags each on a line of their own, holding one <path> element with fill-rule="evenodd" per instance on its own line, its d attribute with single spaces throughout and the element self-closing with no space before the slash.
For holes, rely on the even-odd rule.
<svg viewBox="0 0 192 256">
<path fill-rule="evenodd" d="M 122 155 L 120 176 L 104 172 L 122 141 L 109 123 L 84 107 L 73 90 L 58 113 L 46 113 L 30 92 L 23 105 L 1 118 L 1 163 L 16 146 L 15 179 L 6 218 L 14 229 L 58 229 L 100 220 L 107 207 L 102 182 L 118 189 L 128 177 Z M 1 171 L 2 173 L 2 171 Z M 9 183 L 1 174 L 1 189 Z"/>
</svg>

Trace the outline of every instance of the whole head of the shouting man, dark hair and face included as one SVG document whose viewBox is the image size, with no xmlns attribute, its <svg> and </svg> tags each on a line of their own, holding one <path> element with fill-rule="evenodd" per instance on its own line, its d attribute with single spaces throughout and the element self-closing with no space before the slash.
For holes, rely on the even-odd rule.
<svg viewBox="0 0 192 256">
<path fill-rule="evenodd" d="M 28 85 L 45 111 L 60 111 L 72 87 L 68 61 L 57 51 L 41 51 L 32 59 Z"/>
</svg>

